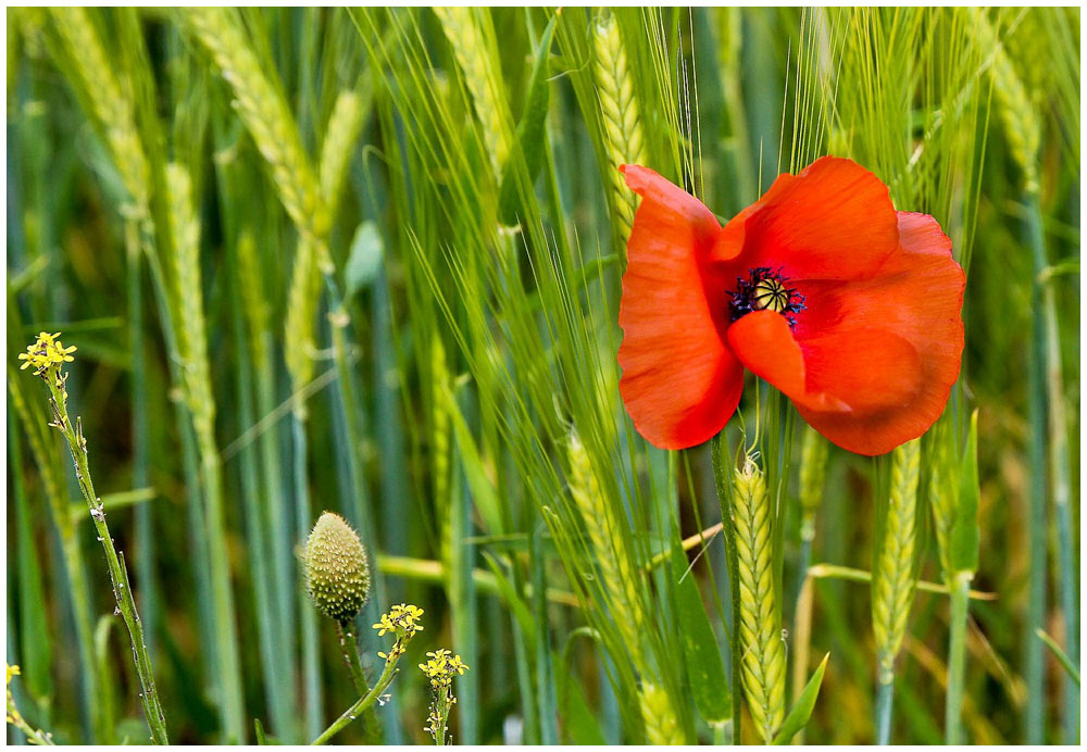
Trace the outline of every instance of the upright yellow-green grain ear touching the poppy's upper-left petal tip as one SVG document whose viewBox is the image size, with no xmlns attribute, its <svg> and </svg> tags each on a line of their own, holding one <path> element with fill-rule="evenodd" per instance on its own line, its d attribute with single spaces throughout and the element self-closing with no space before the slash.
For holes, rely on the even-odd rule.
<svg viewBox="0 0 1087 752">
<path fill-rule="evenodd" d="M 608 183 L 611 186 L 619 236 L 625 247 L 634 226 L 638 197 L 627 189 L 619 167 L 622 164 L 645 163 L 645 138 L 638 117 L 638 103 L 634 97 L 634 82 L 627 68 L 626 50 L 613 17 L 597 22 L 594 41 L 602 135 L 611 165 Z"/>
</svg>

